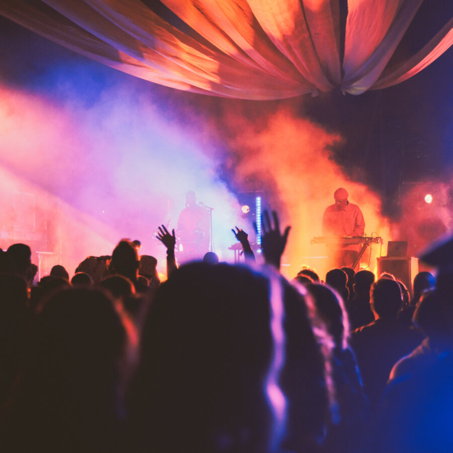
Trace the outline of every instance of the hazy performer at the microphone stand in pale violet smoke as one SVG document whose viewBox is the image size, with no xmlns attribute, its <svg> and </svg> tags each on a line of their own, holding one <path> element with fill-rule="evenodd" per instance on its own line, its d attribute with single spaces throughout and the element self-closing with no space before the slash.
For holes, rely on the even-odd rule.
<svg viewBox="0 0 453 453">
<path fill-rule="evenodd" d="M 209 250 L 209 213 L 197 204 L 193 191 L 187 192 L 186 207 L 179 214 L 177 236 L 182 261 L 201 259 Z"/>
</svg>

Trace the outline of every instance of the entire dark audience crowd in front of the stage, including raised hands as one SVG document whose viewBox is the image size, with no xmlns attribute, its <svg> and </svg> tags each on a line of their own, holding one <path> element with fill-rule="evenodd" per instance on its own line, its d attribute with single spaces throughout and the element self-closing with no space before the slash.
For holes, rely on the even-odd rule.
<svg viewBox="0 0 453 453">
<path fill-rule="evenodd" d="M 34 285 L 31 250 L 0 251 L 3 451 L 453 451 L 452 241 L 409 290 L 390 274 L 280 273 L 289 226 L 263 214 L 258 265 L 214 253 L 168 279 L 121 240 Z"/>
</svg>

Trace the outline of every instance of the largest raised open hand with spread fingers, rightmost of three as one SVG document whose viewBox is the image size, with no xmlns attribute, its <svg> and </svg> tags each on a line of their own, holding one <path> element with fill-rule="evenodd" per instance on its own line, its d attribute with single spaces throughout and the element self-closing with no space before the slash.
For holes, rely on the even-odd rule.
<svg viewBox="0 0 453 453">
<path fill-rule="evenodd" d="M 266 264 L 275 266 L 280 269 L 281 256 L 286 247 L 286 241 L 288 240 L 290 226 L 285 228 L 283 234 L 280 233 L 280 222 L 278 215 L 275 211 L 272 211 L 272 217 L 274 219 L 274 226 L 272 228 L 271 219 L 269 213 L 264 211 L 262 221 L 262 235 L 261 235 L 261 248 L 263 249 L 264 259 Z M 255 223 L 255 230 L 257 230 Z"/>
</svg>

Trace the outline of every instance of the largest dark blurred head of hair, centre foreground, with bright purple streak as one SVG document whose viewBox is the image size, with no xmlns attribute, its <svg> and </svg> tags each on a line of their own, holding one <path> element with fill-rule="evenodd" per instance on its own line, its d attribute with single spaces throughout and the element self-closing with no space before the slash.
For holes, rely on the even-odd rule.
<svg viewBox="0 0 453 453">
<path fill-rule="evenodd" d="M 311 313 L 281 276 L 181 266 L 158 288 L 143 329 L 130 398 L 137 441 L 167 453 L 267 451 L 270 435 L 285 431 L 267 396 L 276 369 L 273 392 L 289 401 L 286 435 L 297 443 L 321 433 L 325 362 Z"/>
</svg>

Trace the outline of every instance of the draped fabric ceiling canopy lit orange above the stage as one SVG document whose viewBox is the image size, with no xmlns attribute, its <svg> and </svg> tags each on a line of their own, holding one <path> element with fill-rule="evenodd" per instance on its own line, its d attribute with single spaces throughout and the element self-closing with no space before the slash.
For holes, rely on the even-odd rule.
<svg viewBox="0 0 453 453">
<path fill-rule="evenodd" d="M 161 2 L 177 21 L 145 0 L 0 0 L 0 14 L 141 79 L 257 100 L 390 87 L 453 44 L 446 18 L 420 50 L 391 60 L 423 0 L 348 0 L 343 26 L 340 0 Z"/>
</svg>

